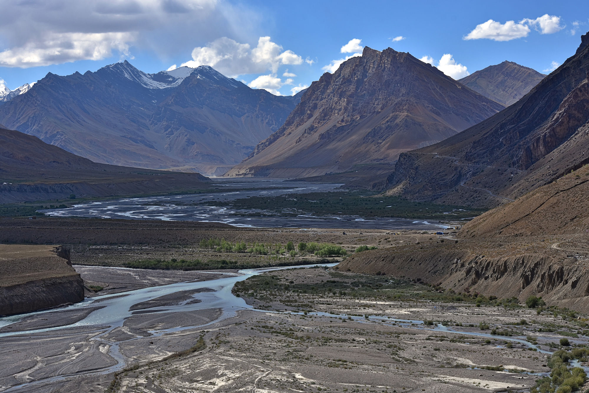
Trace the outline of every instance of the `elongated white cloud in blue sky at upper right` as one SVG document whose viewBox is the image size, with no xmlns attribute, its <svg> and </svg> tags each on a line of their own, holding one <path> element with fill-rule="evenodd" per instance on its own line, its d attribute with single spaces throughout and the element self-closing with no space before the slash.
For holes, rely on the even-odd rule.
<svg viewBox="0 0 589 393">
<path fill-rule="evenodd" d="M 463 37 L 464 40 L 481 40 L 486 38 L 493 41 L 511 41 L 517 38 L 528 37 L 530 26 L 539 31 L 540 34 L 554 34 L 564 26 L 560 24 L 560 17 L 544 14 L 541 17 L 530 19 L 524 18 L 519 22 L 501 22 L 489 19 L 487 22 L 477 25 L 471 32 Z"/>
</svg>

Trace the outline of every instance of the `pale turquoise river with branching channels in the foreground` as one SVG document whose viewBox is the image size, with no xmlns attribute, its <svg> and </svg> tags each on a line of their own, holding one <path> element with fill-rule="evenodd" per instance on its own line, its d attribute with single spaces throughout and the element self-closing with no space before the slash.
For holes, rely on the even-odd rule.
<svg viewBox="0 0 589 393">
<path fill-rule="evenodd" d="M 325 264 L 323 266 L 335 266 L 336 263 L 332 264 Z M 256 274 L 264 273 L 266 271 L 274 271 L 274 270 L 284 270 L 289 268 L 305 268 L 311 267 L 316 265 L 309 265 L 309 266 L 295 266 L 295 267 L 274 267 L 274 268 L 258 268 L 258 269 L 247 269 L 247 270 L 240 270 L 238 273 L 226 273 L 225 277 L 221 277 L 219 279 L 207 280 L 207 281 L 188 281 L 188 282 L 181 282 L 181 283 L 174 283 L 168 284 L 164 286 L 158 287 L 147 287 L 144 289 L 132 290 L 129 292 L 123 293 L 115 293 L 115 294 L 107 294 L 104 296 L 97 296 L 89 299 L 85 299 L 83 302 L 72 304 L 68 307 L 62 307 L 61 309 L 57 310 L 57 314 L 60 312 L 71 312 L 72 310 L 79 310 L 82 312 L 83 310 L 95 309 L 96 306 L 101 306 L 101 309 L 95 309 L 90 312 L 85 317 L 82 317 L 80 320 L 74 323 L 64 324 L 63 326 L 54 326 L 54 327 L 47 327 L 44 329 L 34 329 L 34 330 L 18 330 L 14 332 L 4 332 L 0 333 L 0 338 L 4 340 L 6 345 L 6 339 L 14 337 L 16 348 L 20 348 L 21 340 L 22 342 L 27 342 L 27 340 L 35 339 L 51 339 L 55 340 L 58 337 L 66 337 L 72 334 L 78 334 L 80 336 L 87 336 L 89 337 L 88 343 L 100 343 L 103 345 L 104 348 L 107 348 L 106 351 L 102 351 L 103 353 L 107 353 L 110 358 L 114 359 L 114 362 L 111 361 L 110 364 L 104 365 L 102 367 L 93 368 L 91 371 L 82 371 L 82 372 L 72 372 L 67 373 L 60 370 L 60 372 L 56 375 L 55 373 L 49 373 L 45 375 L 43 378 L 38 378 L 35 381 L 25 382 L 21 385 L 16 385 L 5 389 L 5 392 L 22 392 L 28 391 L 32 387 L 36 387 L 37 385 L 45 385 L 48 383 L 64 381 L 71 378 L 77 378 L 80 376 L 88 376 L 88 375 L 104 375 L 110 374 L 112 372 L 119 371 L 123 369 L 127 365 L 128 358 L 125 358 L 121 354 L 119 346 L 121 343 L 128 343 L 133 342 L 133 340 L 141 340 L 145 338 L 145 335 L 138 334 L 134 337 L 127 337 L 127 338 L 120 338 L 120 339 L 113 339 L 111 332 L 117 328 L 121 328 L 124 326 L 125 320 L 129 319 L 131 316 L 137 315 L 170 315 L 168 317 L 169 320 L 173 321 L 170 327 L 166 328 L 158 328 L 156 330 L 147 330 L 149 333 L 150 338 L 158 338 L 163 335 L 169 335 L 170 333 L 174 332 L 181 332 L 184 330 L 193 330 L 193 332 L 198 332 L 199 329 L 206 329 L 207 326 L 217 324 L 225 319 L 230 317 L 236 316 L 238 310 L 253 310 L 253 311 L 260 311 L 264 313 L 269 312 L 277 312 L 277 311 L 268 311 L 268 310 L 256 310 L 253 306 L 246 304 L 246 302 L 241 297 L 236 297 L 231 293 L 231 289 L 233 288 L 234 284 L 237 281 L 246 280 L 248 277 L 252 277 Z M 120 268 L 111 268 L 111 267 L 104 267 L 103 269 L 120 269 Z M 228 276 L 228 277 L 227 277 Z M 161 297 L 164 295 L 174 294 L 177 292 L 182 292 L 186 290 L 197 290 L 197 289 L 210 289 L 211 292 L 202 292 L 193 294 L 190 299 L 198 299 L 201 300 L 200 303 L 194 302 L 181 302 L 180 304 L 176 304 L 173 306 L 156 306 L 156 307 L 144 307 L 140 312 L 133 312 L 131 311 L 131 307 L 134 304 L 146 302 L 148 300 L 153 300 L 157 297 Z M 197 310 L 210 310 L 210 309 L 217 309 L 220 310 L 219 314 L 209 322 L 200 324 L 200 325 L 191 325 L 186 326 L 182 325 L 181 322 L 176 323 L 176 316 L 178 313 L 182 312 L 194 312 Z M 48 316 L 50 314 L 55 315 L 56 310 L 46 310 L 41 312 L 34 312 L 29 313 L 26 315 L 17 315 L 17 316 L 9 316 L 9 317 L 2 317 L 0 318 L 0 328 L 11 325 L 12 323 L 18 322 L 19 320 L 29 318 L 29 317 L 39 317 L 42 318 L 43 316 Z M 300 312 L 281 312 L 281 313 L 290 313 L 290 314 L 302 314 Z M 174 314 L 176 316 L 174 316 Z M 323 316 L 323 317 L 335 317 L 340 318 L 347 315 L 339 315 L 339 314 L 330 314 L 324 312 L 309 312 L 309 315 L 316 315 L 316 316 Z M 456 330 L 452 329 L 449 326 L 432 326 L 428 327 L 423 323 L 423 320 L 410 320 L 410 319 L 393 319 L 390 316 L 379 316 L 379 315 L 372 315 L 368 318 L 363 316 L 350 316 L 350 319 L 356 320 L 357 322 L 362 323 L 384 323 L 384 324 L 398 324 L 405 327 L 409 327 L 412 329 L 420 329 L 420 330 L 438 330 L 441 332 L 456 332 Z M 128 327 L 127 327 L 128 329 Z M 498 336 L 492 336 L 489 333 L 483 332 L 468 332 L 468 331 L 459 331 L 461 335 L 466 336 L 479 336 L 479 337 L 486 337 L 486 338 L 497 338 Z M 550 353 L 545 351 L 544 349 L 537 348 L 534 343 L 530 343 L 523 337 L 504 337 L 501 336 L 502 340 L 517 342 L 522 345 L 528 346 L 528 348 L 536 349 L 537 351 L 543 353 Z M 74 340 L 75 342 L 75 340 Z M 74 347 L 72 347 L 74 348 Z M 87 351 L 86 349 L 80 349 L 80 353 Z M 74 357 L 75 358 L 75 357 Z M 1 390 L 1 389 L 0 389 Z"/>
</svg>

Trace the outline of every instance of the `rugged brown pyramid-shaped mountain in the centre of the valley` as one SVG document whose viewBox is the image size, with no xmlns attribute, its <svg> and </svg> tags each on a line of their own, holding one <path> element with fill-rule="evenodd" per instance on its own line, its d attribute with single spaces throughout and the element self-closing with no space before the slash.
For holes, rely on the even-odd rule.
<svg viewBox="0 0 589 393">
<path fill-rule="evenodd" d="M 226 176 L 316 176 L 392 162 L 503 108 L 408 53 L 366 47 L 313 82 L 284 125 Z"/>
</svg>

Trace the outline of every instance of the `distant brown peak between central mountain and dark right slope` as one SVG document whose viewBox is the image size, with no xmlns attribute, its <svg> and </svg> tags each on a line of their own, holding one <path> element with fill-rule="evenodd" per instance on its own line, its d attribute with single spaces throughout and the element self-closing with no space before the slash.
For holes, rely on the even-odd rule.
<svg viewBox="0 0 589 393">
<path fill-rule="evenodd" d="M 507 107 L 525 96 L 544 77 L 544 74 L 532 68 L 506 60 L 496 66 L 476 71 L 458 81 Z"/>
</svg>

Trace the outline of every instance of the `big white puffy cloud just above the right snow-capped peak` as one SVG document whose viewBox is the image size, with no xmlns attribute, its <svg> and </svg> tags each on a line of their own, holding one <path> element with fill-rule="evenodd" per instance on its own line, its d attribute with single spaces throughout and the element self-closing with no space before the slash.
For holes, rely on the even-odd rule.
<svg viewBox="0 0 589 393">
<path fill-rule="evenodd" d="M 284 64 L 303 63 L 302 57 L 293 51 L 282 49 L 282 46 L 272 42 L 270 37 L 260 37 L 253 49 L 250 44 L 240 44 L 231 38 L 222 37 L 206 47 L 194 48 L 193 60 L 182 63 L 181 66 L 211 66 L 229 77 L 237 77 L 266 71 L 276 73 Z"/>
</svg>

